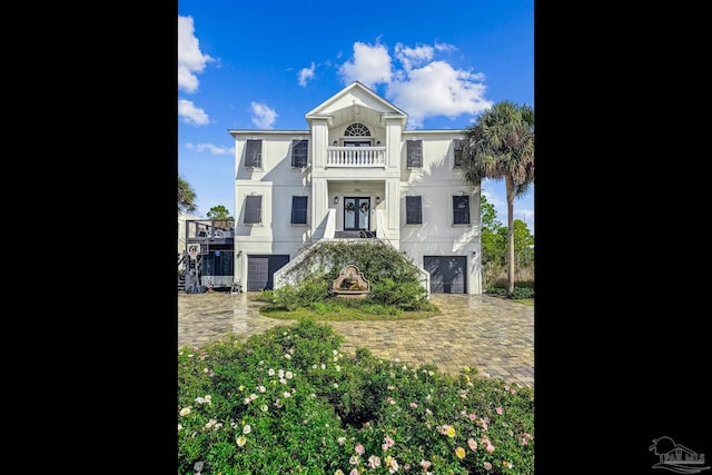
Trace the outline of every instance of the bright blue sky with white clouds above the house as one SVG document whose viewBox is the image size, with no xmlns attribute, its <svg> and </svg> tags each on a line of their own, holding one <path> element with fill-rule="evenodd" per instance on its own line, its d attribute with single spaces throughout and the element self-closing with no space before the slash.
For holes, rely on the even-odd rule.
<svg viewBox="0 0 712 475">
<path fill-rule="evenodd" d="M 179 2 L 178 174 L 196 215 L 235 216 L 228 129 L 306 130 L 305 115 L 354 80 L 406 111 L 408 129 L 534 106 L 534 1 Z M 506 224 L 504 181 L 482 192 Z M 534 188 L 514 211 L 534 232 Z"/>
</svg>

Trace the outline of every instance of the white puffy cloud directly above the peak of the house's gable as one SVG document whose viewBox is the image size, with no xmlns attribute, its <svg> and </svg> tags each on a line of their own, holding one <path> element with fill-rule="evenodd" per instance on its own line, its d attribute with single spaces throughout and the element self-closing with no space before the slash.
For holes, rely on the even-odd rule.
<svg viewBox="0 0 712 475">
<path fill-rule="evenodd" d="M 390 81 L 390 56 L 388 49 L 376 43 L 354 43 L 354 59 L 346 61 L 338 70 L 344 83 L 363 82 L 373 88 L 376 83 Z"/>
</svg>

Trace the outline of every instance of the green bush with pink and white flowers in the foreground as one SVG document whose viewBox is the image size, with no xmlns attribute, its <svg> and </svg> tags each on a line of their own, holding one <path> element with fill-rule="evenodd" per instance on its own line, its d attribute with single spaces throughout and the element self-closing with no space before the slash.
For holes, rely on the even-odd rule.
<svg viewBox="0 0 712 475">
<path fill-rule="evenodd" d="M 178 350 L 179 474 L 533 474 L 534 390 L 299 321 Z"/>
</svg>

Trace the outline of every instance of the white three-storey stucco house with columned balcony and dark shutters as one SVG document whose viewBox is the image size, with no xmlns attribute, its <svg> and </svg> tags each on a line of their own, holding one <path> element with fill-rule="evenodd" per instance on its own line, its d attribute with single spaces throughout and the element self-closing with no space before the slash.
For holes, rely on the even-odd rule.
<svg viewBox="0 0 712 475">
<path fill-rule="evenodd" d="M 273 288 L 320 239 L 375 238 L 429 273 L 431 293 L 482 294 L 479 186 L 458 168 L 465 130 L 407 130 L 408 115 L 360 82 L 305 117 L 304 130 L 228 130 L 236 281 Z"/>
</svg>

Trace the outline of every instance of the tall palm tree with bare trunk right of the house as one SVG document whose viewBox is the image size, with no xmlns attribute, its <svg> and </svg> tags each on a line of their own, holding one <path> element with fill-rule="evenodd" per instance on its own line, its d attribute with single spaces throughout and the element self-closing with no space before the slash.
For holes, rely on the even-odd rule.
<svg viewBox="0 0 712 475">
<path fill-rule="evenodd" d="M 514 291 L 514 198 L 534 184 L 534 109 L 504 100 L 484 111 L 465 132 L 465 180 L 478 186 L 504 178 L 507 191 L 507 294 Z"/>
</svg>

